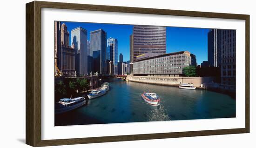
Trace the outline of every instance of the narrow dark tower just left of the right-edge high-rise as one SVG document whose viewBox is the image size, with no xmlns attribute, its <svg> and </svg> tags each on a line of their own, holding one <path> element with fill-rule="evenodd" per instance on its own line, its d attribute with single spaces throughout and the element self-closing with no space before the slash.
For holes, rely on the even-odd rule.
<svg viewBox="0 0 256 148">
<path fill-rule="evenodd" d="M 212 67 L 220 67 L 221 50 L 218 47 L 218 32 L 218 29 L 211 29 L 208 33 L 208 62 Z"/>
</svg>

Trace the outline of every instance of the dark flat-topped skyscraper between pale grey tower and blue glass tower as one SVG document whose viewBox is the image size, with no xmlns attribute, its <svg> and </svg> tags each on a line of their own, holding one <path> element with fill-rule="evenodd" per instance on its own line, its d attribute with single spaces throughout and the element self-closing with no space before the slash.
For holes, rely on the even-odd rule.
<svg viewBox="0 0 256 148">
<path fill-rule="evenodd" d="M 91 31 L 90 41 L 91 51 L 94 58 L 93 72 L 104 74 L 107 49 L 107 33 L 102 29 Z"/>
</svg>

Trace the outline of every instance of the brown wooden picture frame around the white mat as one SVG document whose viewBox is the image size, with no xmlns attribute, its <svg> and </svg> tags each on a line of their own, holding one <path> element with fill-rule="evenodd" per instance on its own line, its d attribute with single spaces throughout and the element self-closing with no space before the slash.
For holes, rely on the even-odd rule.
<svg viewBox="0 0 256 148">
<path fill-rule="evenodd" d="M 245 20 L 245 128 L 41 140 L 41 8 L 61 8 L 121 13 L 147 13 Z M 161 139 L 203 135 L 224 135 L 238 133 L 249 133 L 249 15 L 136 7 L 101 6 L 43 1 L 33 1 L 26 4 L 26 143 L 28 145 L 39 147 L 81 143 L 132 141 L 145 139 Z"/>
</svg>

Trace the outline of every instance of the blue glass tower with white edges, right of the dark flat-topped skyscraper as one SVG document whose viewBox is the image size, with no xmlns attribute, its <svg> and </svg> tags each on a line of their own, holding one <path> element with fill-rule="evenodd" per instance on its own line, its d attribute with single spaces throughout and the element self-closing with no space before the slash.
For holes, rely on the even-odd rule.
<svg viewBox="0 0 256 148">
<path fill-rule="evenodd" d="M 107 50 L 108 50 L 108 55 L 107 55 L 107 60 L 112 61 L 113 63 L 113 74 L 117 74 L 117 53 L 118 53 L 118 48 L 117 48 L 117 40 L 114 38 L 108 38 L 107 40 Z M 111 62 L 110 62 L 111 63 Z"/>
</svg>

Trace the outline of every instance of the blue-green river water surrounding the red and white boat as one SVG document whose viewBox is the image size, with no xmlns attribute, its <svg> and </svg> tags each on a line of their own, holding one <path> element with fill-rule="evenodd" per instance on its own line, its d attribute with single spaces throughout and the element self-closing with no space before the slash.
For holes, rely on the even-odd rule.
<svg viewBox="0 0 256 148">
<path fill-rule="evenodd" d="M 226 94 L 121 79 L 108 82 L 107 94 L 55 115 L 55 126 L 236 117 L 236 100 Z M 159 106 L 151 106 L 141 98 L 141 93 L 148 90 L 160 96 Z"/>
</svg>

